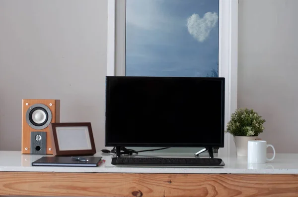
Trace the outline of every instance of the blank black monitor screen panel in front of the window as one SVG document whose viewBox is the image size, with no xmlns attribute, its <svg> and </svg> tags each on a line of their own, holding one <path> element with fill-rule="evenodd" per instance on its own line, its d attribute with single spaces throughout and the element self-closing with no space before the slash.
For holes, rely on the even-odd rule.
<svg viewBox="0 0 298 197">
<path fill-rule="evenodd" d="M 224 78 L 106 77 L 107 147 L 224 147 Z"/>
</svg>

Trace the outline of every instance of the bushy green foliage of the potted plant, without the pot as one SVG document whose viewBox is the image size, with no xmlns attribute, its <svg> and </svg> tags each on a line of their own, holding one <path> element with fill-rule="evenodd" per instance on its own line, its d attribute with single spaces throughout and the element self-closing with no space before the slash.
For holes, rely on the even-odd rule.
<svg viewBox="0 0 298 197">
<path fill-rule="evenodd" d="M 231 115 L 225 132 L 233 136 L 258 136 L 264 131 L 264 122 L 253 109 L 239 108 Z"/>
</svg>

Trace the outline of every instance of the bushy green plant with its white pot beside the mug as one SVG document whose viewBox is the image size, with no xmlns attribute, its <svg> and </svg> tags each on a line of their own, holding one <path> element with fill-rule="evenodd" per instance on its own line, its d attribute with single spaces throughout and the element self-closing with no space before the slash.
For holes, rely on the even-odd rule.
<svg viewBox="0 0 298 197">
<path fill-rule="evenodd" d="M 231 115 L 225 132 L 233 135 L 237 156 L 247 156 L 247 142 L 258 139 L 264 131 L 264 122 L 265 119 L 253 109 L 238 108 Z"/>
</svg>

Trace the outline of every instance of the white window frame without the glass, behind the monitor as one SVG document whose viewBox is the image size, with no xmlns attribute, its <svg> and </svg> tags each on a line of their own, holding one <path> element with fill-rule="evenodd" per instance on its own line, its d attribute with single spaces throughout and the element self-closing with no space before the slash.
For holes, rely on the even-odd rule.
<svg viewBox="0 0 298 197">
<path fill-rule="evenodd" d="M 108 0 L 107 76 L 125 73 L 125 0 Z M 220 0 L 219 77 L 225 78 L 225 125 L 237 108 L 238 0 Z M 219 156 L 235 153 L 230 134 L 224 134 Z"/>
</svg>

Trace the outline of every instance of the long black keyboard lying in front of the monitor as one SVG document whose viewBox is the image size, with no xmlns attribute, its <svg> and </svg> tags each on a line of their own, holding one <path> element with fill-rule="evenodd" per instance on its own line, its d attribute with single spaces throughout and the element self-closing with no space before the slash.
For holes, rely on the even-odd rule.
<svg viewBox="0 0 298 197">
<path fill-rule="evenodd" d="M 113 157 L 113 165 L 126 166 L 224 166 L 220 158 Z"/>
</svg>

